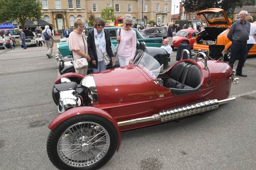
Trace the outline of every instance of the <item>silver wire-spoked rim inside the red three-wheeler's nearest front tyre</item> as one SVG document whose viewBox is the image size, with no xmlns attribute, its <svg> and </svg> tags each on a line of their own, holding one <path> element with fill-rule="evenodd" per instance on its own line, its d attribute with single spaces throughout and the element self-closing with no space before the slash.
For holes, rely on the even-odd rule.
<svg viewBox="0 0 256 170">
<path fill-rule="evenodd" d="M 93 122 L 77 123 L 61 135 L 58 155 L 70 166 L 90 166 L 104 157 L 110 146 L 106 129 Z"/>
</svg>

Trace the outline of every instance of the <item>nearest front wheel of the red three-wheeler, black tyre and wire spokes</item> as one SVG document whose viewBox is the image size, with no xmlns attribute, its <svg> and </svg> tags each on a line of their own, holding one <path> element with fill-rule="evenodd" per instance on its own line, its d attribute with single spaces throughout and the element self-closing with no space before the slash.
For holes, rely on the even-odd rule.
<svg viewBox="0 0 256 170">
<path fill-rule="evenodd" d="M 106 164 L 117 145 L 118 134 L 110 121 L 84 114 L 71 117 L 52 130 L 46 147 L 57 168 L 89 170 Z"/>
</svg>

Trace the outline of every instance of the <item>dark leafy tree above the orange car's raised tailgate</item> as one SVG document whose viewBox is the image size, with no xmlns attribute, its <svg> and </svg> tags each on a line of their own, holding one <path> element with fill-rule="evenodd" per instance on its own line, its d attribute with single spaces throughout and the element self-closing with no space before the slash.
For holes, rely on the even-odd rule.
<svg viewBox="0 0 256 170">
<path fill-rule="evenodd" d="M 222 8 L 228 16 L 231 16 L 236 7 L 242 7 L 243 0 L 182 0 L 182 3 L 188 12 L 207 8 Z"/>
</svg>

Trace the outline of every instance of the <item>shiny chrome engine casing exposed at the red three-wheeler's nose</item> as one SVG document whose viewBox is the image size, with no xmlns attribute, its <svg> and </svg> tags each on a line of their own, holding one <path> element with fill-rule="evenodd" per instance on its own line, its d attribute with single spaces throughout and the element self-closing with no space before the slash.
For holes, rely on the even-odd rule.
<svg viewBox="0 0 256 170">
<path fill-rule="evenodd" d="M 66 110 L 82 105 L 80 96 L 75 90 L 60 91 L 60 104 L 58 112 L 64 113 Z"/>
</svg>

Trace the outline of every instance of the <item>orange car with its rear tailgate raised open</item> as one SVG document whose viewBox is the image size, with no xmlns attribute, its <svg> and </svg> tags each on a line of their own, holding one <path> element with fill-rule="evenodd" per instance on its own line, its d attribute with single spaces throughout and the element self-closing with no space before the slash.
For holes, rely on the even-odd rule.
<svg viewBox="0 0 256 170">
<path fill-rule="evenodd" d="M 228 39 L 227 35 L 232 25 L 231 20 L 227 17 L 224 10 L 220 8 L 202 10 L 197 14 L 204 16 L 208 27 L 204 27 L 205 30 L 197 34 L 193 47 L 194 51 L 209 51 L 210 44 L 225 45 L 224 50 L 227 51 L 227 54 L 224 60 L 228 61 L 232 42 Z M 256 55 L 256 45 L 253 45 L 248 55 Z"/>
</svg>

